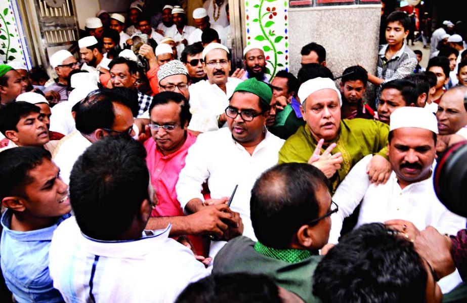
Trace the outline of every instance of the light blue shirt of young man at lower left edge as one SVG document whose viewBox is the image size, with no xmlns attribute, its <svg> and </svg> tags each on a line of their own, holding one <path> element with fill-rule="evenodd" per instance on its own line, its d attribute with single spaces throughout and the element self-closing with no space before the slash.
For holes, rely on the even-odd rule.
<svg viewBox="0 0 467 303">
<path fill-rule="evenodd" d="M 10 229 L 12 211 L 2 216 L 0 265 L 5 282 L 18 302 L 63 302 L 49 276 L 49 246 L 55 229 L 70 214 L 43 229 L 20 232 Z"/>
</svg>

